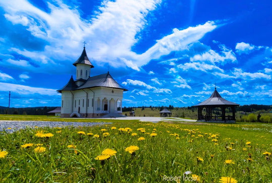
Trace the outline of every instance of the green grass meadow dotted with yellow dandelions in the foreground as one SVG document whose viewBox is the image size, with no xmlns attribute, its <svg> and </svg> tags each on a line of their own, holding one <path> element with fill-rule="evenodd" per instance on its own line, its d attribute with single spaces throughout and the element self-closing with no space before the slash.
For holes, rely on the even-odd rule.
<svg viewBox="0 0 272 183">
<path fill-rule="evenodd" d="M 0 182 L 165 182 L 171 176 L 181 177 L 180 182 L 184 177 L 196 177 L 194 182 L 272 180 L 270 124 L 111 122 L 3 131 Z M 139 150 L 129 152 L 129 146 Z"/>
</svg>

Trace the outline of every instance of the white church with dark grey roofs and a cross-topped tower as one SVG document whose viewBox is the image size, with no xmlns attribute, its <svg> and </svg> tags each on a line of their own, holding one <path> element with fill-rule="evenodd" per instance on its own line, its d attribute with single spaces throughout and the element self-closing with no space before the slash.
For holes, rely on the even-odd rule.
<svg viewBox="0 0 272 183">
<path fill-rule="evenodd" d="M 122 115 L 123 91 L 108 73 L 90 77 L 91 64 L 85 46 L 79 59 L 77 77 L 57 90 L 61 93 L 61 117 L 118 117 Z"/>
</svg>

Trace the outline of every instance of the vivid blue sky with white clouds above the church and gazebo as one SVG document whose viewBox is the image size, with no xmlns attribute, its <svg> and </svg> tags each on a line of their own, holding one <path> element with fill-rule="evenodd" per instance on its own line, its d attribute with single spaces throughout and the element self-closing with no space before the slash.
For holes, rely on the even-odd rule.
<svg viewBox="0 0 272 183">
<path fill-rule="evenodd" d="M 0 0 L 0 106 L 60 106 L 82 42 L 123 106 L 272 104 L 271 1 Z"/>
</svg>

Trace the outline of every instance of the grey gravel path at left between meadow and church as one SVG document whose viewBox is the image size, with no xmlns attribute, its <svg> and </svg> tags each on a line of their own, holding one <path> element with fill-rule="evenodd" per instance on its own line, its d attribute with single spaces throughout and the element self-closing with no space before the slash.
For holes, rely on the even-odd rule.
<svg viewBox="0 0 272 183">
<path fill-rule="evenodd" d="M 24 129 L 26 127 L 91 127 L 95 125 L 104 125 L 111 123 L 82 123 L 82 122 L 63 122 L 63 121 L 23 121 L 23 120 L 0 120 L 0 131 L 6 130 L 7 132 L 14 132 L 16 130 Z"/>
</svg>

